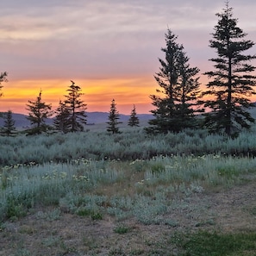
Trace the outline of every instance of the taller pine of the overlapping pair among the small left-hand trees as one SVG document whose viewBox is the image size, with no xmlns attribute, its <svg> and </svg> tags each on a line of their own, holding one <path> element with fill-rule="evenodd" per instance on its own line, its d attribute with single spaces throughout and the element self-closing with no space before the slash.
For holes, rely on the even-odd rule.
<svg viewBox="0 0 256 256">
<path fill-rule="evenodd" d="M 73 81 L 69 86 L 68 95 L 66 95 L 66 111 L 70 113 L 66 122 L 66 130 L 69 132 L 77 132 L 84 130 L 84 124 L 86 124 L 86 104 L 80 98 L 83 95 L 81 88 L 75 85 Z"/>
</svg>

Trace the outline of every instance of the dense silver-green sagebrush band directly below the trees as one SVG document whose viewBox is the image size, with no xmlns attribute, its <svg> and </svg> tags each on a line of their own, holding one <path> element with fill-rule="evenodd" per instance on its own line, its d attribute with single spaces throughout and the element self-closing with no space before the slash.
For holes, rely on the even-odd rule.
<svg viewBox="0 0 256 256">
<path fill-rule="evenodd" d="M 122 134 L 109 135 L 90 131 L 72 134 L 52 134 L 0 137 L 0 166 L 69 162 L 72 159 L 151 159 L 162 155 L 256 155 L 256 136 L 244 131 L 234 140 L 227 136 L 187 130 L 179 134 L 149 136 L 143 128 L 128 128 Z"/>
</svg>

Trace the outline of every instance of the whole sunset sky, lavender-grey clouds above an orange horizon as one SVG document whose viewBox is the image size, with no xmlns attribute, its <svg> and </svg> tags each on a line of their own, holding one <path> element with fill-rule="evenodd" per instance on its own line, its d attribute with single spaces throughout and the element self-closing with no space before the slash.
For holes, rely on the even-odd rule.
<svg viewBox="0 0 256 256">
<path fill-rule="evenodd" d="M 161 47 L 170 28 L 190 57 L 190 66 L 213 69 L 211 33 L 224 0 L 1 0 L 0 111 L 28 114 L 28 100 L 56 109 L 73 80 L 87 111 L 108 112 L 112 99 L 121 114 L 148 114 L 158 87 Z M 230 0 L 238 26 L 256 42 L 255 0 Z M 256 46 L 252 53 L 256 52 Z M 256 65 L 256 63 L 255 63 Z"/>
</svg>

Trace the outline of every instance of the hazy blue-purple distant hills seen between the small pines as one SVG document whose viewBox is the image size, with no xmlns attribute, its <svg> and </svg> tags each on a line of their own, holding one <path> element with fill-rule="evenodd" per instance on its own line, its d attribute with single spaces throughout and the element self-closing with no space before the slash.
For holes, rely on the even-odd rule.
<svg viewBox="0 0 256 256">
<path fill-rule="evenodd" d="M 88 124 L 97 124 L 108 122 L 108 112 L 86 112 L 87 114 L 87 123 Z M 16 122 L 16 128 L 29 128 L 30 122 L 27 119 L 26 115 L 22 114 L 12 114 L 13 119 Z M 152 119 L 153 116 L 150 114 L 138 114 L 137 115 L 140 121 L 147 122 L 149 119 Z M 129 115 L 122 115 L 120 114 L 120 122 L 128 122 Z M 53 124 L 53 119 L 49 118 L 47 120 L 47 124 Z M 3 112 L 0 112 L 0 127 L 3 127 Z"/>
</svg>

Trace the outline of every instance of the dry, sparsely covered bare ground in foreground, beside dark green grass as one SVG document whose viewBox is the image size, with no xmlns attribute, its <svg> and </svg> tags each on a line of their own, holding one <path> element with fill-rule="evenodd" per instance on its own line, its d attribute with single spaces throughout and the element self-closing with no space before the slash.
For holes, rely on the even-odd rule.
<svg viewBox="0 0 256 256">
<path fill-rule="evenodd" d="M 16 222 L 3 223 L 0 255 L 176 255 L 170 237 L 177 232 L 256 230 L 255 196 L 253 178 L 231 189 L 193 193 L 164 216 L 172 219 L 171 225 L 116 222 L 108 215 L 93 221 L 64 211 L 49 217 L 46 213 L 54 209 L 35 209 Z"/>
</svg>

